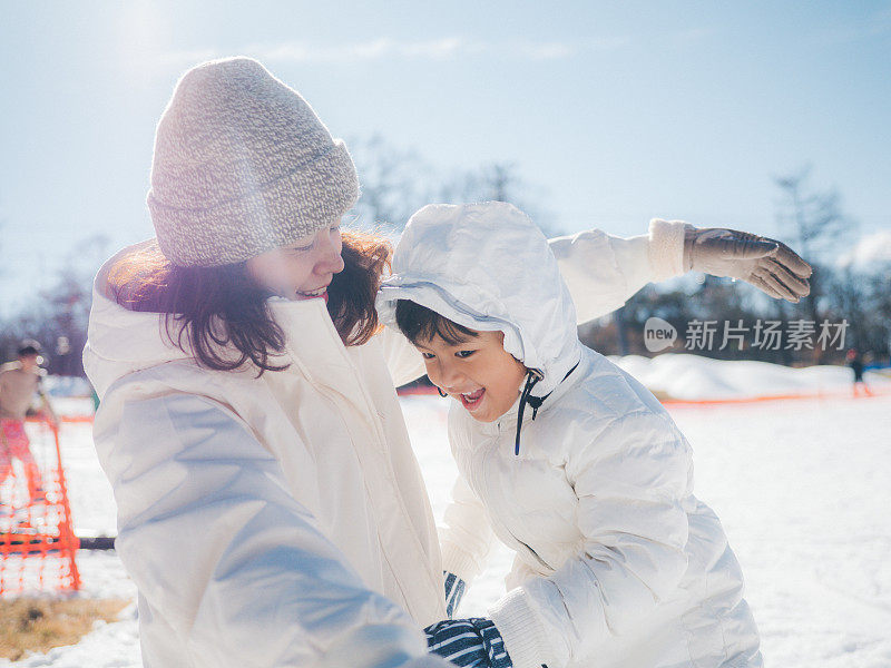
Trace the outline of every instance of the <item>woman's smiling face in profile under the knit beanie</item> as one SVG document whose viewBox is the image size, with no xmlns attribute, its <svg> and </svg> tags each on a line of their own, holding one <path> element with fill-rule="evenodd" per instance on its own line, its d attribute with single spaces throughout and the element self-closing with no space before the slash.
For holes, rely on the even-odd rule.
<svg viewBox="0 0 891 668">
<path fill-rule="evenodd" d="M 286 299 L 327 302 L 327 285 L 343 271 L 340 222 L 283 248 L 247 261 L 247 274 L 258 285 Z"/>
</svg>

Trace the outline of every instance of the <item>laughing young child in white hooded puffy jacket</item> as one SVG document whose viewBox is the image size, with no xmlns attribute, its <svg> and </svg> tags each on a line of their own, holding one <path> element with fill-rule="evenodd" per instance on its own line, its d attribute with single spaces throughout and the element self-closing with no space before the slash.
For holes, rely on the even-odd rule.
<svg viewBox="0 0 891 668">
<path fill-rule="evenodd" d="M 689 445 L 643 385 L 581 345 L 554 255 L 525 214 L 422 208 L 378 311 L 456 400 L 443 569 L 470 582 L 492 531 L 516 551 L 490 619 L 431 627 L 434 651 L 471 665 L 446 633 L 459 623 L 495 666 L 762 665 L 736 558 L 693 495 Z"/>
</svg>

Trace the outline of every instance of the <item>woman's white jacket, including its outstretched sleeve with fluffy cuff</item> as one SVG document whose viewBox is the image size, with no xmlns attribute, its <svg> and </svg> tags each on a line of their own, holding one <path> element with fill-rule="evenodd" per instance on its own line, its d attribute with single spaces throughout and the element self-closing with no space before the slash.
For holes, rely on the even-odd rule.
<svg viewBox="0 0 891 668">
<path fill-rule="evenodd" d="M 594 317 L 681 273 L 682 238 L 595 230 L 555 250 Z M 160 316 L 108 297 L 116 259 L 84 363 L 144 664 L 441 665 L 419 630 L 446 617 L 440 548 L 393 389 L 423 374 L 420 355 L 393 332 L 345 348 L 322 301 L 280 301 L 287 371 L 208 371 Z"/>
</svg>

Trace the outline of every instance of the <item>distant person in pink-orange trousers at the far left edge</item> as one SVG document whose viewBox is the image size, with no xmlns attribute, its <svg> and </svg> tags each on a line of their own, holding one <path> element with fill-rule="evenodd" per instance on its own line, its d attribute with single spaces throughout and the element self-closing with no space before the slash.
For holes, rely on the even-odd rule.
<svg viewBox="0 0 891 668">
<path fill-rule="evenodd" d="M 30 500 L 43 501 L 43 483 L 25 432 L 25 419 L 36 397 L 40 400 L 39 412 L 50 424 L 58 424 L 58 419 L 41 385 L 46 372 L 40 369 L 40 344 L 23 341 L 16 356 L 14 362 L 0 366 L 0 484 L 12 473 L 13 460 L 19 460 Z"/>
</svg>

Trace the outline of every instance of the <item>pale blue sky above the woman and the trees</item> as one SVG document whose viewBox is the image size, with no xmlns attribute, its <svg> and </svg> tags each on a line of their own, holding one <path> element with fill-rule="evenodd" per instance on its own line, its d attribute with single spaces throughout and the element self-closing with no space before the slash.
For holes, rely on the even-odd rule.
<svg viewBox="0 0 891 668">
<path fill-rule="evenodd" d="M 0 0 L 0 315 L 78 242 L 153 235 L 173 86 L 238 53 L 335 136 L 380 132 L 443 171 L 515 164 L 568 230 L 779 234 L 772 177 L 805 164 L 864 234 L 891 228 L 888 1 Z"/>
</svg>

